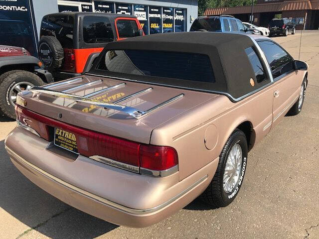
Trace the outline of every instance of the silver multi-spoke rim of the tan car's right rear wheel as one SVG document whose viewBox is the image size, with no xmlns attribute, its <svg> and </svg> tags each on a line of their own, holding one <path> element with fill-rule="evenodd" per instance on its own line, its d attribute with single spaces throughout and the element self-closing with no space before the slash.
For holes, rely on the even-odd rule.
<svg viewBox="0 0 319 239">
<path fill-rule="evenodd" d="M 226 193 L 233 191 L 235 185 L 237 184 L 242 161 L 243 152 L 241 146 L 236 143 L 229 151 L 225 166 L 223 188 Z"/>
</svg>

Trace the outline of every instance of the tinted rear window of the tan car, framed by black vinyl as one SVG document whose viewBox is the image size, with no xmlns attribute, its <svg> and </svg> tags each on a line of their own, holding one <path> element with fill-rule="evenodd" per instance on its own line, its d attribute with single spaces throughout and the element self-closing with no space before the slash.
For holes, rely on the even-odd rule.
<svg viewBox="0 0 319 239">
<path fill-rule="evenodd" d="M 214 73 L 207 55 L 150 50 L 110 50 L 98 65 L 99 70 L 129 75 L 214 83 Z M 180 86 L 172 81 L 171 85 Z M 185 85 L 181 85 L 184 87 Z"/>
</svg>

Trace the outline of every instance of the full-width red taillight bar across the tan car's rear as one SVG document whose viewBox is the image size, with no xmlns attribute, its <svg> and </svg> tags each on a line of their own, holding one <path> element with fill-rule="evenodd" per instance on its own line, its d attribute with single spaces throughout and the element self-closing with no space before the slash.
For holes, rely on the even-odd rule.
<svg viewBox="0 0 319 239">
<path fill-rule="evenodd" d="M 18 105 L 15 106 L 15 111 L 19 121 L 26 123 L 48 141 L 53 140 L 55 127 L 74 133 L 78 152 L 87 157 L 97 155 L 158 171 L 169 169 L 178 164 L 177 152 L 172 147 L 141 144 L 80 128 L 41 116 Z"/>
</svg>

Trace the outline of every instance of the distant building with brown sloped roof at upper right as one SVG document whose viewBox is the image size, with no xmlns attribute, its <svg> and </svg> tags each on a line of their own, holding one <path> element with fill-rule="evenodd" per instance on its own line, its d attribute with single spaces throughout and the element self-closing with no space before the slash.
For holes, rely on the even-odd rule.
<svg viewBox="0 0 319 239">
<path fill-rule="evenodd" d="M 207 8 L 204 15 L 229 14 L 242 21 L 249 21 L 250 6 Z M 253 8 L 253 23 L 268 26 L 273 18 L 290 18 L 297 29 L 319 28 L 319 0 L 257 0 Z"/>
</svg>

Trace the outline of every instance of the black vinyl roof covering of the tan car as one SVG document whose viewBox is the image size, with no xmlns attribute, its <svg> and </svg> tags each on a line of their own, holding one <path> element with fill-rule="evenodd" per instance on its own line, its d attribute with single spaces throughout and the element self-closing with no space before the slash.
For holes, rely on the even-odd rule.
<svg viewBox="0 0 319 239">
<path fill-rule="evenodd" d="M 108 50 L 132 49 L 208 55 L 214 71 L 215 83 L 207 85 L 203 90 L 228 93 L 232 98 L 237 99 L 255 90 L 250 84 L 250 78 L 255 79 L 256 82 L 256 77 L 245 53 L 245 49 L 248 47 L 254 47 L 254 42 L 245 34 L 178 32 L 152 34 L 110 42 L 106 45 L 104 52 Z M 258 54 L 258 51 L 256 52 Z M 121 75 L 121 73 L 116 73 L 117 75 L 109 73 L 108 75 L 110 76 L 128 78 L 125 75 Z M 150 77 L 147 78 L 140 75 L 132 75 L 130 79 L 152 82 Z M 158 83 L 159 79 L 156 82 Z M 189 86 L 185 85 L 185 87 Z"/>
</svg>

